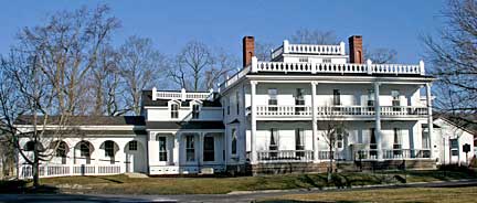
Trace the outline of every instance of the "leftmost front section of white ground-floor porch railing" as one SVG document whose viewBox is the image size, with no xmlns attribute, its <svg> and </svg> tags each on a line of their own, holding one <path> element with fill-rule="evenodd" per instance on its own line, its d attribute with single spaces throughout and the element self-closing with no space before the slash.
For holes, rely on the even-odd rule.
<svg viewBox="0 0 477 203">
<path fill-rule="evenodd" d="M 264 150 L 257 151 L 259 162 L 307 162 L 312 161 L 312 150 Z"/>
</svg>

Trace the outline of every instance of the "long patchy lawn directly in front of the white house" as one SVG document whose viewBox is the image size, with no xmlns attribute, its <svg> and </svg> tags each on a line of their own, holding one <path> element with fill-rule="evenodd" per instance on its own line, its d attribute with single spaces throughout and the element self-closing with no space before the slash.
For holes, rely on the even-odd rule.
<svg viewBox="0 0 477 203">
<path fill-rule="evenodd" d="M 41 179 L 41 184 L 60 188 L 60 192 L 104 194 L 223 194 L 231 191 L 284 190 L 324 186 L 349 186 L 398 183 L 395 175 L 406 182 L 427 182 L 477 178 L 465 172 L 411 171 L 395 173 L 339 173 L 331 183 L 326 174 L 286 174 L 239 178 L 145 178 L 126 175 L 64 177 Z M 68 185 L 65 188 L 65 185 Z M 80 188 L 77 185 L 81 185 Z M 74 189 L 68 189 L 68 188 Z"/>
</svg>

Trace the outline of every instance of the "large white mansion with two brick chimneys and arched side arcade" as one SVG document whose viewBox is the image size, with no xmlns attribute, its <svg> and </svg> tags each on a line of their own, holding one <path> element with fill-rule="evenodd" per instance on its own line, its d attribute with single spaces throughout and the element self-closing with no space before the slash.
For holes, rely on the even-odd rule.
<svg viewBox="0 0 477 203">
<path fill-rule="evenodd" d="M 344 42 L 284 41 L 272 52 L 272 62 L 259 62 L 254 38 L 245 36 L 243 68 L 220 88 L 152 88 L 144 90 L 142 116 L 75 117 L 78 132 L 53 140 L 60 148 L 40 173 L 257 174 L 320 172 L 330 158 L 342 170 L 358 163 L 422 169 L 467 161 L 463 146 L 474 149 L 474 137 L 448 120 L 433 119 L 435 78 L 426 75 L 424 62 L 364 61 L 357 35 L 349 39 L 348 54 Z M 31 129 L 29 117 L 19 118 L 17 126 Z M 29 153 L 32 140 L 21 142 Z M 18 168 L 19 177 L 31 175 L 21 156 Z"/>
</svg>

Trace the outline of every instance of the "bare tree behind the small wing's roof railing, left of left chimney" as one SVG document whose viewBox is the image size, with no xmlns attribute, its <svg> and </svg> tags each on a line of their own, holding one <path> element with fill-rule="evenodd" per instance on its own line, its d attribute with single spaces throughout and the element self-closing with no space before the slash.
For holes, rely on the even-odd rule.
<svg viewBox="0 0 477 203">
<path fill-rule="evenodd" d="M 206 90 L 232 73 L 236 65 L 237 61 L 223 50 L 213 52 L 204 43 L 192 41 L 176 56 L 169 77 L 181 88 Z"/>
</svg>

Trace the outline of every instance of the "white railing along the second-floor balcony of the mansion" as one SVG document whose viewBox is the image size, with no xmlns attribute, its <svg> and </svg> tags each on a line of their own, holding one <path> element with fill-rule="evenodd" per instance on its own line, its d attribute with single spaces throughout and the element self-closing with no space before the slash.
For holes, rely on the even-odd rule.
<svg viewBox="0 0 477 203">
<path fill-rule="evenodd" d="M 427 108 L 422 106 L 380 106 L 382 118 L 425 118 Z M 247 115 L 251 107 L 247 108 Z M 318 106 L 316 115 L 321 119 L 374 118 L 373 106 Z M 257 105 L 258 119 L 311 119 L 312 107 L 307 105 Z"/>
</svg>

